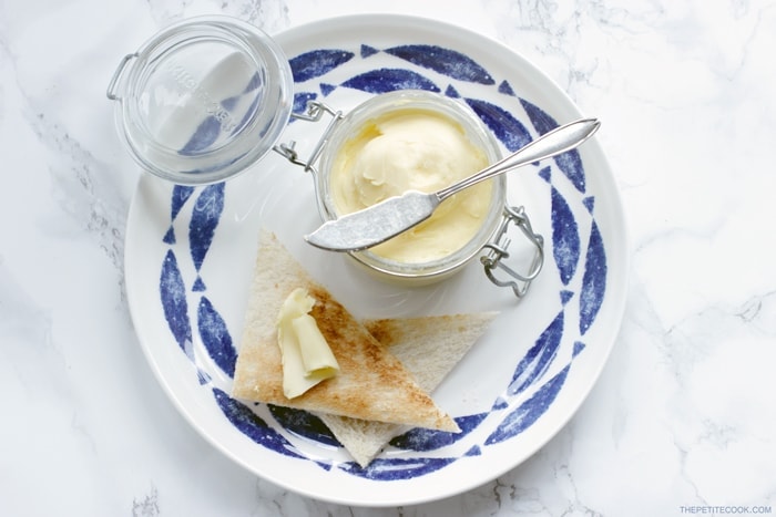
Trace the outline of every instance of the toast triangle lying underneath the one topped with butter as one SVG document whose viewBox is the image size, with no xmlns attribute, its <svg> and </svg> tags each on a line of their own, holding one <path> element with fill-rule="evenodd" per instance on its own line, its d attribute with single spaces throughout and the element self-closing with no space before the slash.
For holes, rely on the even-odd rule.
<svg viewBox="0 0 776 517">
<path fill-rule="evenodd" d="M 497 312 L 368 320 L 367 330 L 432 392 L 488 329 Z M 406 427 L 319 414 L 354 459 L 366 467 Z"/>
</svg>

